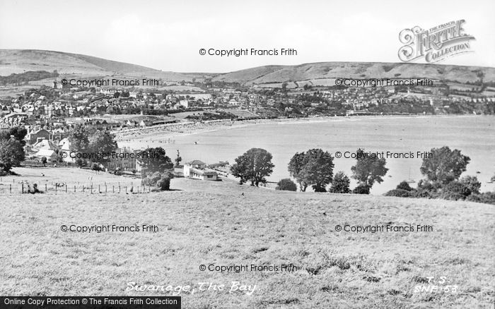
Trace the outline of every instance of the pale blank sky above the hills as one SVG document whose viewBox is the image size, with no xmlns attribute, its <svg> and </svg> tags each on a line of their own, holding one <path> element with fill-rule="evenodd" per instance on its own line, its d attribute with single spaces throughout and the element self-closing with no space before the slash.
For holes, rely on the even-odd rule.
<svg viewBox="0 0 495 309">
<path fill-rule="evenodd" d="M 47 49 L 163 71 L 269 64 L 400 62 L 399 32 L 464 19 L 474 52 L 438 64 L 495 67 L 495 1 L 0 0 L 0 49 Z M 200 49 L 296 49 L 297 56 L 202 56 Z M 1 59 L 0 59 L 1 60 Z"/>
</svg>

